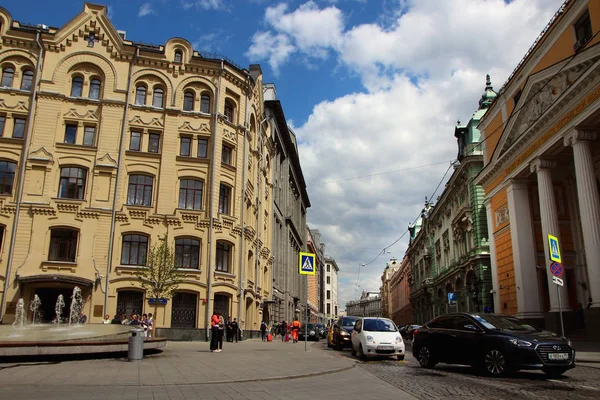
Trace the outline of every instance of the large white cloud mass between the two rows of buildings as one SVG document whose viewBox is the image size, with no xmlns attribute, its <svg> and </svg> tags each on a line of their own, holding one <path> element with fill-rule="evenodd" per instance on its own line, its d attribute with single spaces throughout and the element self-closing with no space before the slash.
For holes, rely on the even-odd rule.
<svg viewBox="0 0 600 400">
<path fill-rule="evenodd" d="M 486 73 L 498 90 L 561 3 L 396 0 L 385 15 L 355 26 L 331 4 L 266 9 L 266 29 L 247 51 L 252 61 L 278 74 L 292 57 L 314 65 L 336 57 L 338 70 L 364 85 L 317 104 L 295 128 L 313 205 L 309 225 L 340 265 L 341 309 L 363 289 L 378 290 L 385 263 L 404 255 L 406 237 L 365 266 L 356 287 L 358 265 L 406 231 L 448 168 L 439 162 L 456 156 L 454 125 L 477 109 Z M 427 164 L 437 165 L 317 185 Z"/>
</svg>

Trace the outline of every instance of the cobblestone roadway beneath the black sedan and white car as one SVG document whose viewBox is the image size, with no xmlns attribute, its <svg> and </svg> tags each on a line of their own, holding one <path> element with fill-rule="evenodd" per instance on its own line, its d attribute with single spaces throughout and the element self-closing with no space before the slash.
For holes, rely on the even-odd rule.
<svg viewBox="0 0 600 400">
<path fill-rule="evenodd" d="M 337 354 L 352 358 L 349 350 Z M 438 364 L 427 370 L 410 352 L 404 361 L 383 358 L 358 367 L 418 399 L 600 399 L 600 369 L 590 367 L 578 366 L 559 379 L 538 371 L 490 378 L 471 367 Z"/>
</svg>

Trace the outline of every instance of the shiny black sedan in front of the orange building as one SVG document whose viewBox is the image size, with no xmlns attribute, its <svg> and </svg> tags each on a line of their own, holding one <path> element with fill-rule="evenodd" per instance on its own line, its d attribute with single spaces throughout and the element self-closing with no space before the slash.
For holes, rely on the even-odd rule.
<svg viewBox="0 0 600 400">
<path fill-rule="evenodd" d="M 575 367 L 569 340 L 508 315 L 443 315 L 417 330 L 412 348 L 425 368 L 438 362 L 465 364 L 493 376 L 520 369 L 559 376 Z"/>
</svg>

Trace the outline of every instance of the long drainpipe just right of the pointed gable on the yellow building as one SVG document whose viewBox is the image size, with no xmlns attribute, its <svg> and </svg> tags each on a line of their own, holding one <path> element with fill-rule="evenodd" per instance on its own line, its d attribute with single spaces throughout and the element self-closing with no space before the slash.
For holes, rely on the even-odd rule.
<svg viewBox="0 0 600 400">
<path fill-rule="evenodd" d="M 104 313 L 108 309 L 108 282 L 112 265 L 113 246 L 115 243 L 115 225 L 117 222 L 117 200 L 119 198 L 119 183 L 121 182 L 121 164 L 125 154 L 125 134 L 127 133 L 127 115 L 129 114 L 129 96 L 131 95 L 131 81 L 133 80 L 133 66 L 140 55 L 140 48 L 136 46 L 135 54 L 129 64 L 129 77 L 127 78 L 127 94 L 125 95 L 125 111 L 123 111 L 123 125 L 121 126 L 121 143 L 119 144 L 119 158 L 117 159 L 117 178 L 113 193 L 113 208 L 110 218 L 110 241 L 108 242 L 108 261 L 106 263 L 106 282 L 104 284 Z"/>
</svg>

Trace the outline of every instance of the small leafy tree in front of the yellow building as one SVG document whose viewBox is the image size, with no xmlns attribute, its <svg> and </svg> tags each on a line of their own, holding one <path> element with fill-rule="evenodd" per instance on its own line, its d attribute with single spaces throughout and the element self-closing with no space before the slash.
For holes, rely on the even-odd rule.
<svg viewBox="0 0 600 400">
<path fill-rule="evenodd" d="M 164 235 L 159 243 L 150 248 L 146 265 L 138 270 L 137 276 L 142 288 L 146 291 L 147 297 L 154 299 L 153 337 L 157 321 L 158 300 L 173 297 L 173 293 L 181 283 L 181 274 L 177 267 L 175 253 L 169 247 L 167 235 Z"/>
</svg>

